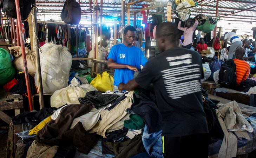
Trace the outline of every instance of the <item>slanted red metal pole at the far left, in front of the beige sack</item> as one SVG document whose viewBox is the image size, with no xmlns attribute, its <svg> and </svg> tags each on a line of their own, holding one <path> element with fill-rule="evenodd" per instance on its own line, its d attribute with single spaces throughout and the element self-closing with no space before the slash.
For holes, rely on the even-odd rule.
<svg viewBox="0 0 256 158">
<path fill-rule="evenodd" d="M 31 95 L 30 83 L 29 83 L 29 77 L 28 77 L 28 71 L 27 71 L 27 59 L 26 59 L 25 45 L 24 45 L 24 39 L 22 37 L 22 27 L 21 27 L 21 17 L 20 17 L 20 2 L 19 2 L 19 0 L 15 0 L 15 6 L 16 6 L 16 12 L 17 12 L 17 25 L 18 25 L 18 31 L 17 32 L 19 32 L 19 34 L 20 34 L 20 44 L 21 44 L 22 58 L 23 58 L 24 71 L 25 71 L 25 79 L 26 79 L 26 85 L 27 85 L 29 110 L 32 111 L 33 110 L 33 103 L 32 103 L 32 95 Z"/>
</svg>

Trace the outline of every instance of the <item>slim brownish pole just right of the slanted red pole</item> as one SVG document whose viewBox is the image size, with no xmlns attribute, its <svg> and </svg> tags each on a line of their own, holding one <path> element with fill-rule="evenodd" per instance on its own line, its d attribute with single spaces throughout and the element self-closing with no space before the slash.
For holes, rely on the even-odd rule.
<svg viewBox="0 0 256 158">
<path fill-rule="evenodd" d="M 33 25 L 35 30 L 35 52 L 37 54 L 37 80 L 38 80 L 38 94 L 39 94 L 39 104 L 40 109 L 45 107 L 44 103 L 44 90 L 42 87 L 42 75 L 41 75 L 41 64 L 40 64 L 40 54 L 39 54 L 39 40 L 38 40 L 38 31 L 37 31 L 37 10 L 35 5 L 33 7 Z"/>
</svg>

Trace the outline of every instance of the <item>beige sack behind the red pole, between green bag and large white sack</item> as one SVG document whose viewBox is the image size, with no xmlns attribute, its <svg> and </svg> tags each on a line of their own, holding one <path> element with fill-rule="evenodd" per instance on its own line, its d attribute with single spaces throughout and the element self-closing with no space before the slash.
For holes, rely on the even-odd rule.
<svg viewBox="0 0 256 158">
<path fill-rule="evenodd" d="M 14 67 L 19 72 L 24 72 L 24 65 L 23 65 L 23 58 L 22 58 L 22 52 L 21 47 L 15 46 L 15 47 L 8 47 L 10 51 L 14 50 L 14 56 L 16 59 L 13 61 Z M 17 53 L 16 53 L 17 52 Z M 27 47 L 25 47 L 26 52 L 26 59 L 27 59 L 27 70 L 28 73 L 31 74 L 33 77 L 35 76 L 35 71 L 37 70 L 37 63 L 36 63 L 36 54 L 35 51 L 30 51 Z"/>
</svg>

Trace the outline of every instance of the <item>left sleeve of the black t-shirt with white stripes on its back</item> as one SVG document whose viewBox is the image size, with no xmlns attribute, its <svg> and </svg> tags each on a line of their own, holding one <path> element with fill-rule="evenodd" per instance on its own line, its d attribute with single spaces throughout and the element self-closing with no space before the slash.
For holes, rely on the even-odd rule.
<svg viewBox="0 0 256 158">
<path fill-rule="evenodd" d="M 147 89 L 151 83 L 153 83 L 155 78 L 153 65 L 150 61 L 146 63 L 142 71 L 137 75 L 135 81 L 144 89 Z"/>
</svg>

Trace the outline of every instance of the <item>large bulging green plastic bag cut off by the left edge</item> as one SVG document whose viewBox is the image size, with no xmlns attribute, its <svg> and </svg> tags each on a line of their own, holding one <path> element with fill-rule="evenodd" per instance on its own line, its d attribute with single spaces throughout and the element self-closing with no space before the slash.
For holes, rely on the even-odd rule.
<svg viewBox="0 0 256 158">
<path fill-rule="evenodd" d="M 12 61 L 9 53 L 0 48 L 0 85 L 4 85 L 14 78 L 15 69 L 12 66 Z"/>
</svg>

